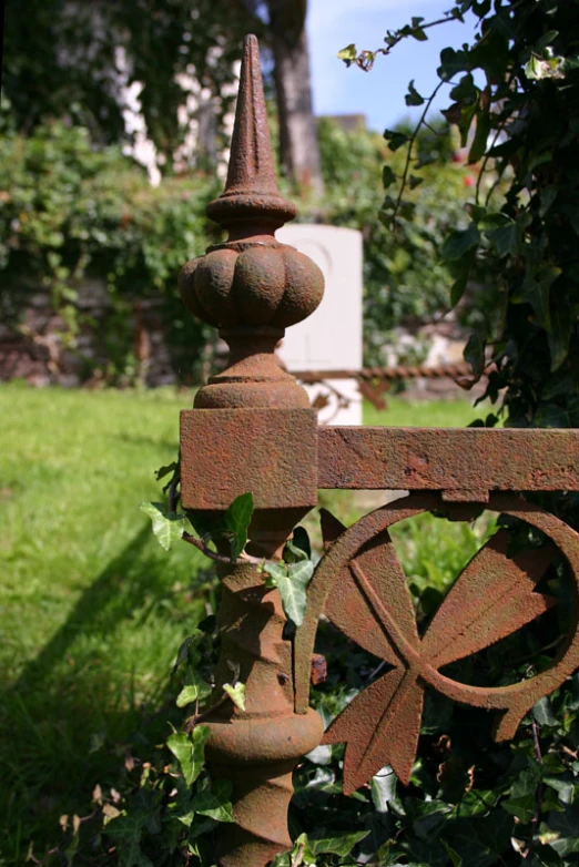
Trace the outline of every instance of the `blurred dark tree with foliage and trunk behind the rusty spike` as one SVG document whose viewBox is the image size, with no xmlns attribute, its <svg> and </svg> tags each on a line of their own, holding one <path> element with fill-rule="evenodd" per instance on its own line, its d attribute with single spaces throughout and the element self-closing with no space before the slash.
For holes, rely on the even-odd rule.
<svg viewBox="0 0 579 867">
<path fill-rule="evenodd" d="M 304 0 L 30 0 L 22 14 L 8 0 L 3 94 L 20 133 L 67 119 L 99 144 L 119 144 L 133 135 L 123 112 L 138 83 L 166 174 L 192 121 L 203 123 L 191 92 L 214 123 L 215 144 L 226 146 L 221 121 L 233 108 L 243 37 L 255 32 L 274 55 L 282 165 L 292 181 L 319 186 L 305 13 Z"/>
</svg>

